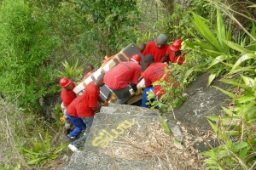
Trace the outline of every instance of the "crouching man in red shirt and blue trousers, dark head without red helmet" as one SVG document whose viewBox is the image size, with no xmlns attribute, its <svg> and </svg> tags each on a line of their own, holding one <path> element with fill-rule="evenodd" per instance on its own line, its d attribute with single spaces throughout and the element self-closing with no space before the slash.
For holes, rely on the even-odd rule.
<svg viewBox="0 0 256 170">
<path fill-rule="evenodd" d="M 147 65 L 147 69 L 143 72 L 143 78 L 145 81 L 146 88 L 143 91 L 142 106 L 150 107 L 150 105 L 146 104 L 148 102 L 148 93 L 147 93 L 148 91 L 154 92 L 154 95 L 155 95 L 154 99 L 160 99 L 161 95 L 165 93 L 165 91 L 161 89 L 160 85 L 152 85 L 152 83 L 156 81 L 160 81 L 160 79 L 165 74 L 166 74 L 166 77 L 164 77 L 164 80 L 168 82 L 168 78 L 172 72 L 168 71 L 166 73 L 165 70 L 167 69 L 167 65 L 165 63 L 155 63 L 154 57 L 151 54 L 146 55 L 144 58 L 144 61 Z"/>
</svg>

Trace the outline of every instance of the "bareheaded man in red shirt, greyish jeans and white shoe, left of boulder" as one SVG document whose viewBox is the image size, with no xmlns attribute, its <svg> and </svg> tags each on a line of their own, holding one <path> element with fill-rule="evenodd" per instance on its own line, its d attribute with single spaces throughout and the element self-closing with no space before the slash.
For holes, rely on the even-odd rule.
<svg viewBox="0 0 256 170">
<path fill-rule="evenodd" d="M 73 151 L 77 151 L 79 147 L 84 145 L 84 141 L 90 133 L 94 115 L 102 108 L 102 105 L 100 105 L 99 102 L 102 101 L 102 99 L 100 99 L 100 87 L 104 85 L 103 77 L 104 74 L 100 75 L 96 79 L 96 82 L 90 82 L 86 86 L 84 94 L 80 95 L 78 98 L 79 101 L 76 105 L 76 111 L 86 125 L 86 130 L 84 136 L 74 140 L 73 143 L 68 144 L 68 148 Z"/>
</svg>

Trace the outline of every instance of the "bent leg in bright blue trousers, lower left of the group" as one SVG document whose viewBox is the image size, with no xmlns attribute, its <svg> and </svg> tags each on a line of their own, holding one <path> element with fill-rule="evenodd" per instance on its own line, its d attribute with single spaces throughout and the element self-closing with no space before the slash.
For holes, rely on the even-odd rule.
<svg viewBox="0 0 256 170">
<path fill-rule="evenodd" d="M 67 113 L 65 116 L 67 116 L 67 120 L 75 126 L 73 131 L 67 135 L 68 138 L 73 139 L 78 136 L 86 128 L 86 126 L 83 120 L 79 117 L 69 116 Z"/>
</svg>

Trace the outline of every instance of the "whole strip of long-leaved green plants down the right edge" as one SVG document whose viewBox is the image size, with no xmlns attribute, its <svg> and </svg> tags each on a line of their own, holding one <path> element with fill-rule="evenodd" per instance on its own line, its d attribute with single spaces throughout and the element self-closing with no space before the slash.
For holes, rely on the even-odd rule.
<svg viewBox="0 0 256 170">
<path fill-rule="evenodd" d="M 230 90 L 215 87 L 227 94 L 231 103 L 230 107 L 222 107 L 223 115 L 207 116 L 220 146 L 203 152 L 202 155 L 208 156 L 205 162 L 210 169 L 253 169 L 256 156 L 256 54 L 251 50 L 255 43 L 254 23 L 251 33 L 247 31 L 249 35 L 239 37 L 234 42 L 230 36 L 230 28 L 224 26 L 223 16 L 219 11 L 217 26 L 211 25 L 197 14 L 193 16 L 193 25 L 201 37 L 193 34 L 195 41 L 186 45 L 195 53 L 200 48 L 201 54 L 210 59 L 207 70 L 212 73 L 208 85 L 215 77 L 222 75 L 221 82 L 232 86 Z"/>
</svg>

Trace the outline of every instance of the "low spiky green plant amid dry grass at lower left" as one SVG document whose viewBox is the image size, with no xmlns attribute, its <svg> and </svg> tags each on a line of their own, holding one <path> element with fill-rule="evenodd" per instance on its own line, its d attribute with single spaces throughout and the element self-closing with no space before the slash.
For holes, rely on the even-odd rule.
<svg viewBox="0 0 256 170">
<path fill-rule="evenodd" d="M 31 139 L 31 147 L 23 148 L 22 153 L 29 159 L 28 165 L 42 167 L 46 162 L 55 160 L 58 157 L 58 153 L 67 147 L 67 144 L 61 144 L 55 148 L 51 145 L 48 131 L 45 133 L 43 139 L 41 133 L 39 133 L 40 140 Z"/>
</svg>

